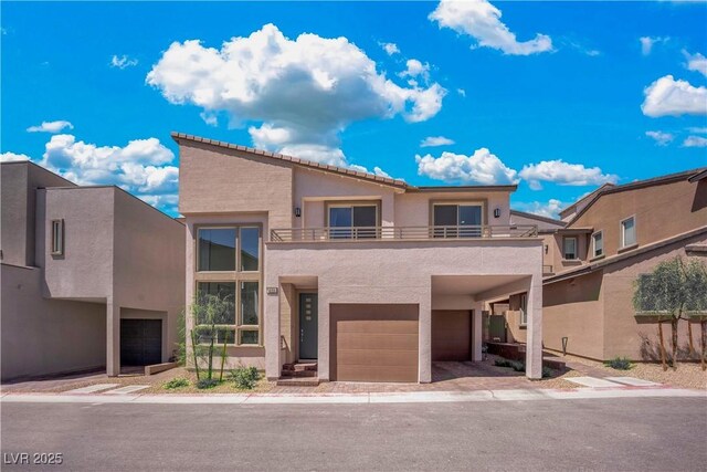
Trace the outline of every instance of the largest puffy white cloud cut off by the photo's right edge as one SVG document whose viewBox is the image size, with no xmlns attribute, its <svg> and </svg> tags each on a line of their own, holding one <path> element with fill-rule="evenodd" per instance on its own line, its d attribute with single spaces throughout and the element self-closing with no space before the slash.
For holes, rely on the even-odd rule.
<svg viewBox="0 0 707 472">
<path fill-rule="evenodd" d="M 707 87 L 694 87 L 672 75 L 653 82 L 643 94 L 645 99 L 641 109 L 646 116 L 707 115 Z"/>
</svg>

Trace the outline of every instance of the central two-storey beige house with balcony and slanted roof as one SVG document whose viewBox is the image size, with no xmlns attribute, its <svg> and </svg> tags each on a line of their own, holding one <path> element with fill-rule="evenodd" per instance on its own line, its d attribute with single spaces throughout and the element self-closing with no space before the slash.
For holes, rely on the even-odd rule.
<svg viewBox="0 0 707 472">
<path fill-rule="evenodd" d="M 172 136 L 186 296 L 238 301 L 219 335 L 230 366 L 429 382 L 434 360 L 481 360 L 485 301 L 526 293 L 527 376 L 541 377 L 542 240 L 510 225 L 515 186 L 414 187 Z"/>
</svg>

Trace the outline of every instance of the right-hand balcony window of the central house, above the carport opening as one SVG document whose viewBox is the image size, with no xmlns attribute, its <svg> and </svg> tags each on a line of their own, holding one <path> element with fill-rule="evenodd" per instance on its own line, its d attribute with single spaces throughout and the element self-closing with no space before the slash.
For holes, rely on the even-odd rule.
<svg viewBox="0 0 707 472">
<path fill-rule="evenodd" d="M 434 238 L 478 238 L 484 224 L 482 203 L 434 203 Z"/>
</svg>

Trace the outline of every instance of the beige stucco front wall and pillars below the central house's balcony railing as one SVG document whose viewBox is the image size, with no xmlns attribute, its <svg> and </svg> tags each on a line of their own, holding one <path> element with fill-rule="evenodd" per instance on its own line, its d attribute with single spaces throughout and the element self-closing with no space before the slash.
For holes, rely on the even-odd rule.
<svg viewBox="0 0 707 472">
<path fill-rule="evenodd" d="M 526 241 L 330 242 L 268 243 L 265 286 L 279 286 L 288 276 L 316 275 L 319 294 L 318 375 L 329 378 L 329 305 L 391 304 L 420 306 L 420 381 L 431 379 L 432 275 L 527 274 L 532 293 L 528 310 L 541 335 L 541 247 Z M 303 263 L 306 261 L 306 263 Z M 415 270 L 410 270 L 414 261 Z M 473 287 L 469 287 L 473 292 Z M 279 375 L 279 296 L 265 297 L 266 373 Z M 534 297 L 538 304 L 534 305 Z M 481 305 L 478 306 L 481 308 Z M 481 321 L 479 310 L 478 321 Z M 481 325 L 481 323 L 479 323 Z M 481 332 L 479 332 L 481 333 Z M 532 349 L 531 349 L 532 350 Z M 271 355 L 277 353 L 277 355 Z"/>
</svg>

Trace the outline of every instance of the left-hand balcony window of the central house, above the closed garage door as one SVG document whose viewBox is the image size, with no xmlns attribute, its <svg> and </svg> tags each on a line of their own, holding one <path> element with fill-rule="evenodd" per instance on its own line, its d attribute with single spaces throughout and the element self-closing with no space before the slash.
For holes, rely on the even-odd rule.
<svg viewBox="0 0 707 472">
<path fill-rule="evenodd" d="M 378 234 L 378 204 L 328 204 L 329 238 L 370 239 Z"/>
</svg>

